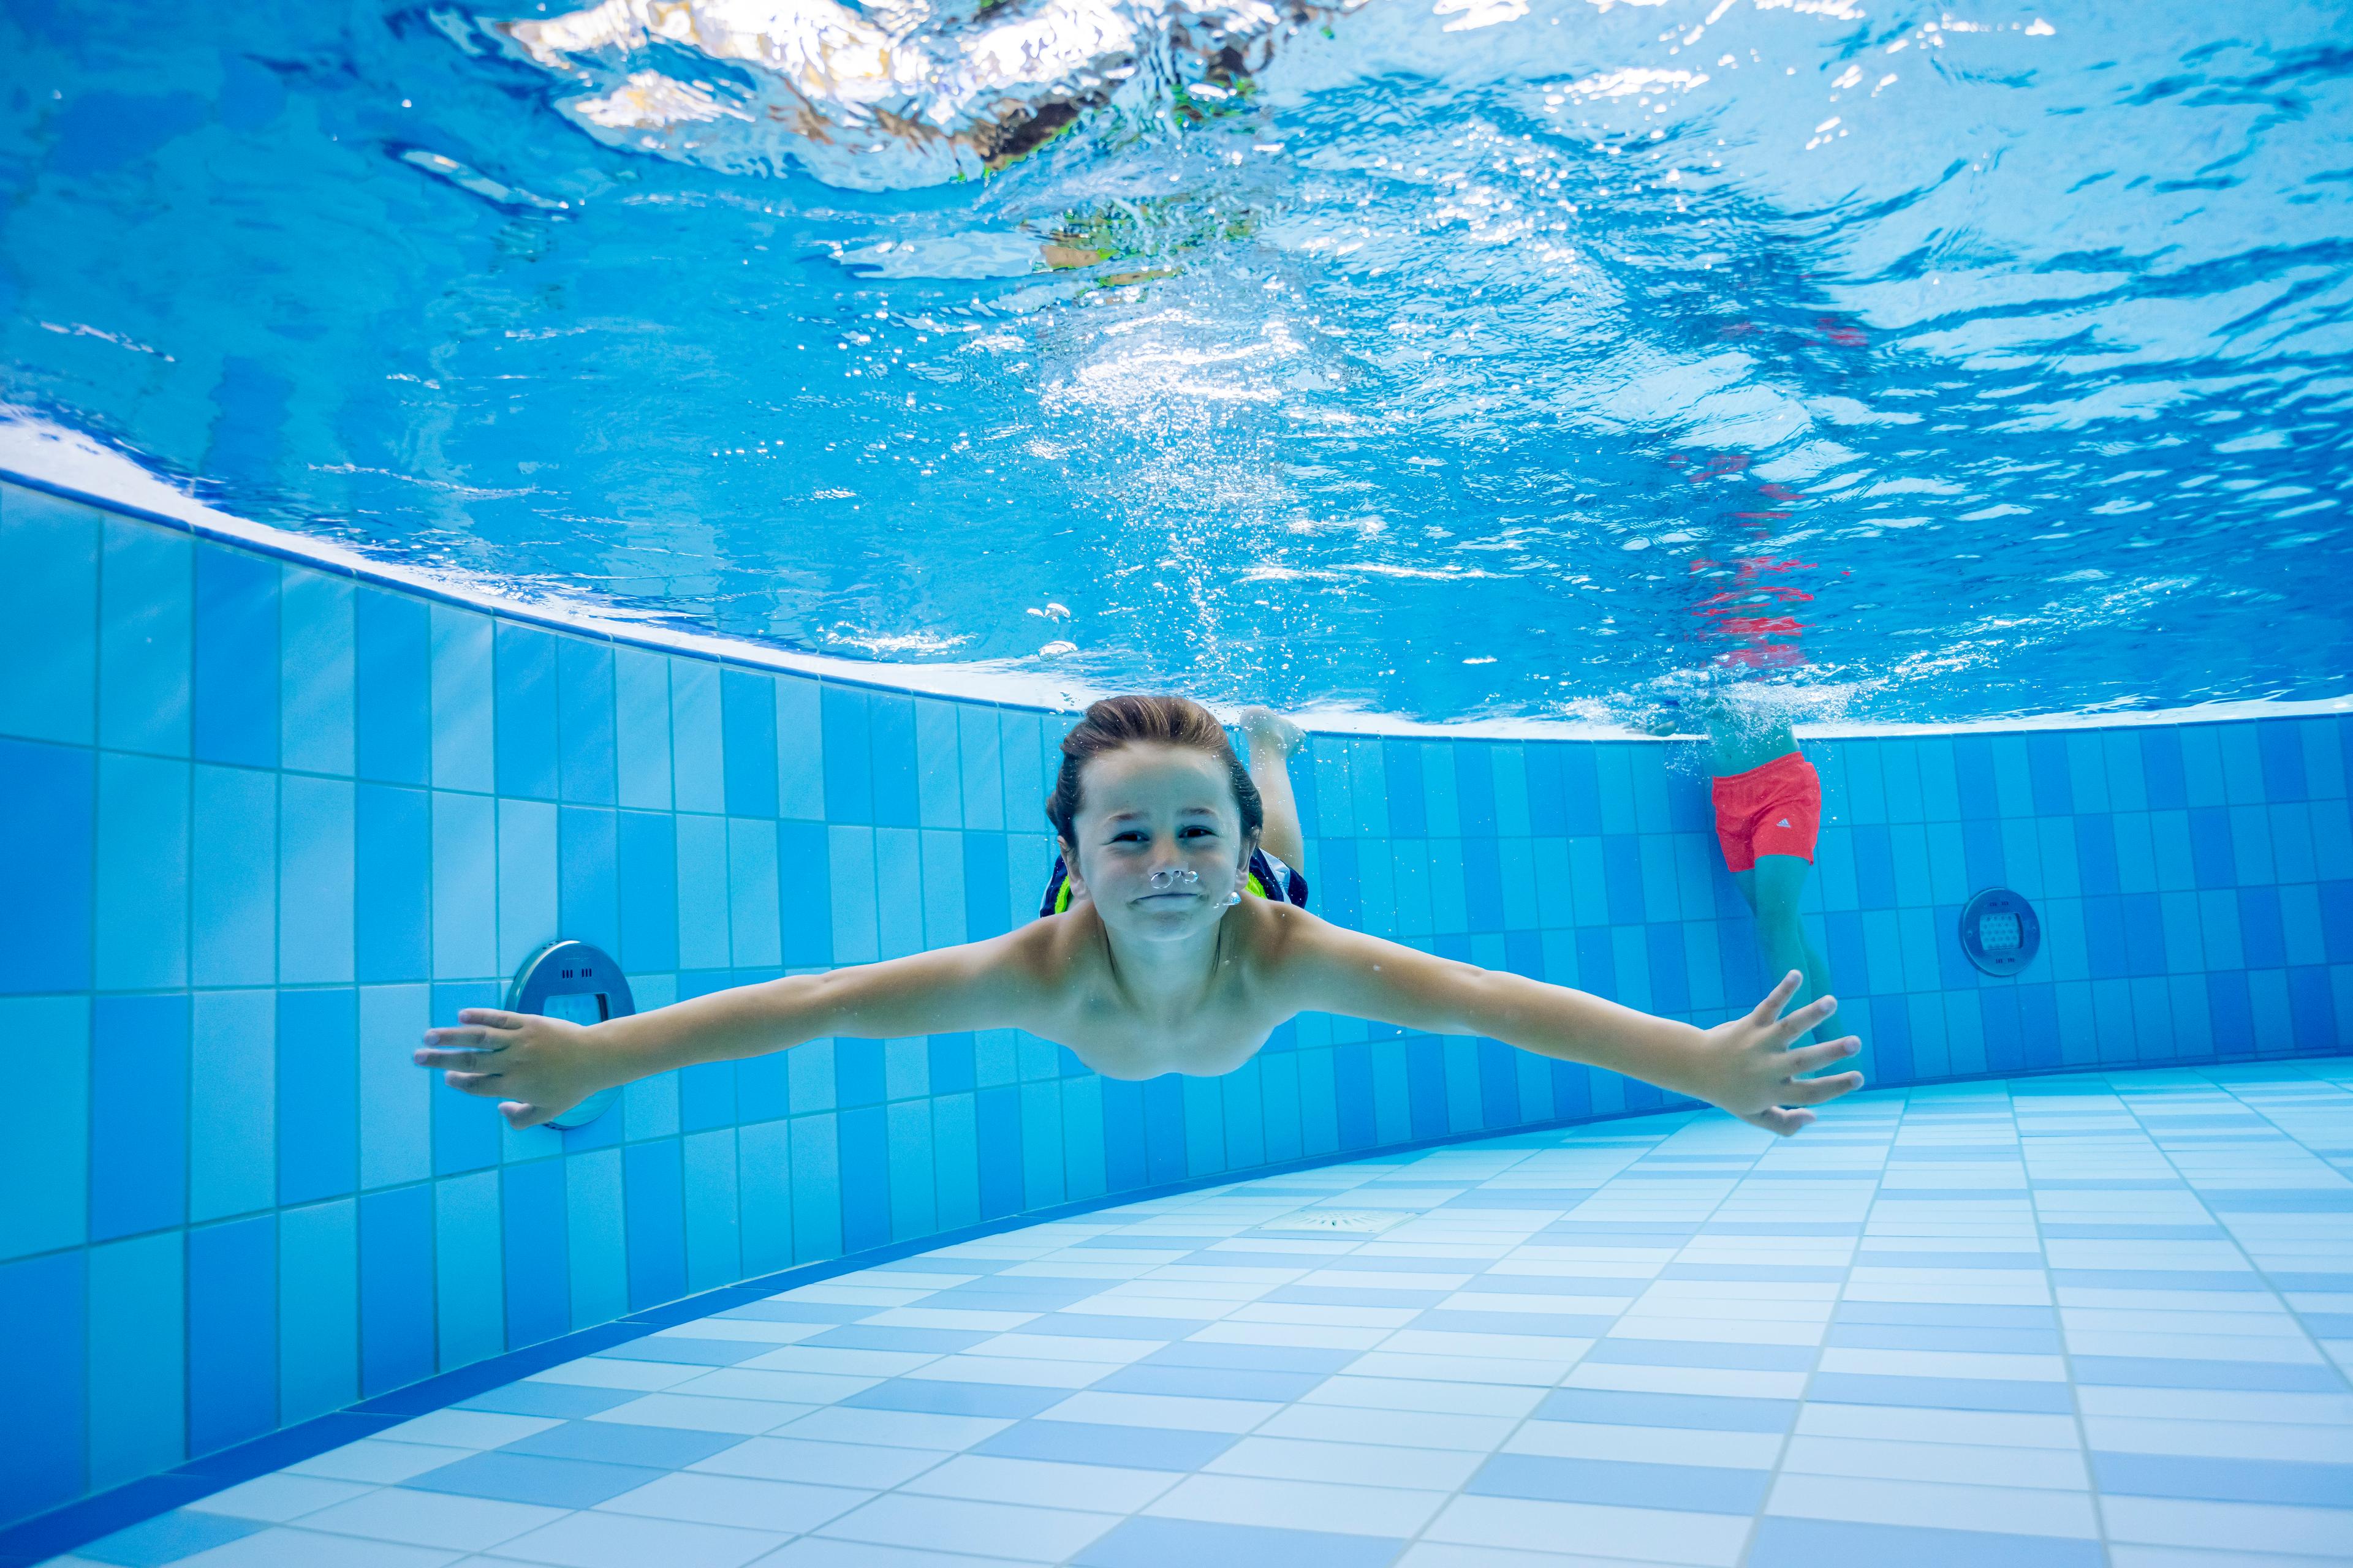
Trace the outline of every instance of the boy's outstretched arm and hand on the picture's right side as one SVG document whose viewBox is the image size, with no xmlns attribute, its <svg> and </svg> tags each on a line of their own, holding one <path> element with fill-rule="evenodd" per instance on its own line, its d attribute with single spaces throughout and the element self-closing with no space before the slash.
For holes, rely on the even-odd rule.
<svg viewBox="0 0 2353 1568">
<path fill-rule="evenodd" d="M 1297 954 L 1301 1011 L 1374 1018 L 1431 1034 L 1485 1034 L 1508 1046 L 1624 1072 L 1687 1093 L 1769 1133 L 1795 1133 L 1809 1105 L 1861 1088 L 1861 1072 L 1800 1077 L 1861 1048 L 1857 1037 L 1791 1051 L 1831 1016 L 1821 997 L 1781 1016 L 1802 976 L 1791 971 L 1751 1013 L 1701 1030 L 1638 1013 L 1565 985 L 1457 964 L 1362 931 L 1315 922 Z"/>
</svg>

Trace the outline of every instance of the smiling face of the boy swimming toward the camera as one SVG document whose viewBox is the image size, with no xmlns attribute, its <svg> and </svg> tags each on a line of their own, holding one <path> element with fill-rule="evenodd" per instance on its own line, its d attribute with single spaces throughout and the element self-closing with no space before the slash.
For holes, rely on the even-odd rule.
<svg viewBox="0 0 2353 1568">
<path fill-rule="evenodd" d="M 1122 745 L 1087 764 L 1078 844 L 1064 844 L 1073 898 L 1122 936 L 1207 931 L 1242 891 L 1249 844 L 1226 764 L 1179 745 Z M 1153 872 L 1174 872 L 1153 879 Z M 1193 872 L 1186 877 L 1184 872 Z"/>
</svg>

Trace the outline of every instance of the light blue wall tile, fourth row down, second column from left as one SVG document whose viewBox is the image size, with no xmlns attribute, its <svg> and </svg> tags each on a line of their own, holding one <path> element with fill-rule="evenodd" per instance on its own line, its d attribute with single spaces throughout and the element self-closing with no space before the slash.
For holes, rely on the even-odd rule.
<svg viewBox="0 0 2353 1568">
<path fill-rule="evenodd" d="M 186 1458 L 186 1276 L 176 1229 L 89 1248 L 89 1486 Z"/>
</svg>

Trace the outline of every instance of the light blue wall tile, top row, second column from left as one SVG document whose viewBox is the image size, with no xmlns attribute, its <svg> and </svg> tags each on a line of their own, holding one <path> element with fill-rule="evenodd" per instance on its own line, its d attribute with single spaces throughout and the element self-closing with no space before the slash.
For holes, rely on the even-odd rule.
<svg viewBox="0 0 2353 1568">
<path fill-rule="evenodd" d="M 99 578 L 99 745 L 188 755 L 195 541 L 106 520 Z"/>
</svg>

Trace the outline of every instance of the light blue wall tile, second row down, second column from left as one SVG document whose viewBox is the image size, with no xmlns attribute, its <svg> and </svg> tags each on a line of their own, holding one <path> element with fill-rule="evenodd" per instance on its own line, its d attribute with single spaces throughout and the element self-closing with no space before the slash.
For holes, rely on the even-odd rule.
<svg viewBox="0 0 2353 1568">
<path fill-rule="evenodd" d="M 188 764 L 99 752 L 99 990 L 188 983 Z"/>
</svg>

